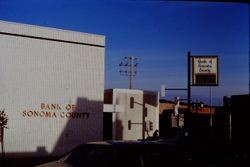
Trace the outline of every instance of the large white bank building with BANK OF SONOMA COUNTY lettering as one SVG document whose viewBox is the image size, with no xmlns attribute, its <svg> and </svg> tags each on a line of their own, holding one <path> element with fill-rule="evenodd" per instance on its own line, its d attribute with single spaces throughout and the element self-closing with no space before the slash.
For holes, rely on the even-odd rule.
<svg viewBox="0 0 250 167">
<path fill-rule="evenodd" d="M 57 156 L 103 138 L 105 36 L 0 21 L 6 157 Z"/>
</svg>

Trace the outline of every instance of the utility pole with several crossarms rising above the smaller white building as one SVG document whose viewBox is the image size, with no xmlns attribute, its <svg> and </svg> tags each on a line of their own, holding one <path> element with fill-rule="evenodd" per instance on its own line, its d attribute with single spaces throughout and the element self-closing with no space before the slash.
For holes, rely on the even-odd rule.
<svg viewBox="0 0 250 167">
<path fill-rule="evenodd" d="M 129 89 L 133 88 L 133 78 L 136 75 L 136 63 L 137 58 L 134 56 L 124 57 L 123 61 L 119 64 L 120 74 L 124 76 L 129 76 Z"/>
</svg>

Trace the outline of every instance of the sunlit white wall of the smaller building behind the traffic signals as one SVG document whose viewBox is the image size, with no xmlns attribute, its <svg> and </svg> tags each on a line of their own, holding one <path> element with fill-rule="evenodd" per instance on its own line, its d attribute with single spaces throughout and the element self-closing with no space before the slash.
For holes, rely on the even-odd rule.
<svg viewBox="0 0 250 167">
<path fill-rule="evenodd" d="M 108 90 L 107 90 L 108 91 Z M 158 92 L 130 89 L 112 89 L 113 104 L 106 105 L 106 111 L 113 113 L 113 139 L 138 140 L 152 136 L 159 130 L 159 95 Z M 149 99 L 144 99 L 146 96 Z M 130 108 L 130 98 L 134 98 L 134 108 Z M 116 108 L 119 110 L 116 110 Z M 121 109 L 121 107 L 123 109 Z M 113 108 L 114 110 L 111 110 Z M 153 129 L 143 132 L 143 109 L 147 110 L 144 121 L 153 123 Z M 131 121 L 129 129 L 128 121 Z M 145 129 L 146 130 L 146 129 Z M 144 133 L 144 134 L 143 134 Z"/>
</svg>

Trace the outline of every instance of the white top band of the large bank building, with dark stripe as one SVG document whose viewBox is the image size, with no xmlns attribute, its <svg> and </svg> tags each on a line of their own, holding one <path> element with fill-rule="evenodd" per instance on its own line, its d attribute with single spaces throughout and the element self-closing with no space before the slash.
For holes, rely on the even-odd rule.
<svg viewBox="0 0 250 167">
<path fill-rule="evenodd" d="M 58 28 L 0 21 L 0 35 L 19 36 L 95 47 L 105 46 L 105 36 Z"/>
</svg>

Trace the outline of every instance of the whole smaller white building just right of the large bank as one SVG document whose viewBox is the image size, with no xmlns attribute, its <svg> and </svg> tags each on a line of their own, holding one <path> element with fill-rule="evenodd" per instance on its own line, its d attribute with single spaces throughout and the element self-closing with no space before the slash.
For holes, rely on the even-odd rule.
<svg viewBox="0 0 250 167">
<path fill-rule="evenodd" d="M 104 139 L 146 139 L 156 130 L 159 130 L 158 92 L 105 90 Z"/>
</svg>

